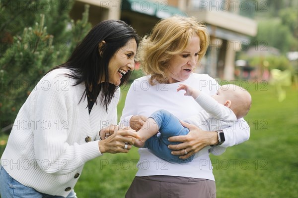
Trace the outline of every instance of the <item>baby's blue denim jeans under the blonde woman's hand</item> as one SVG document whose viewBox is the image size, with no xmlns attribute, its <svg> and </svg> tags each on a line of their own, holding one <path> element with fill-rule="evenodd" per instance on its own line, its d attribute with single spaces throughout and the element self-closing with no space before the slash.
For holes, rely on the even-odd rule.
<svg viewBox="0 0 298 198">
<path fill-rule="evenodd" d="M 194 155 L 187 159 L 180 159 L 179 155 L 172 155 L 168 145 L 177 145 L 180 142 L 169 142 L 172 136 L 183 136 L 189 133 L 189 129 L 182 126 L 178 118 L 166 110 L 157 110 L 152 113 L 150 118 L 154 119 L 158 125 L 159 133 L 149 138 L 144 148 L 149 148 L 156 156 L 173 163 L 187 163 L 194 159 Z"/>
</svg>

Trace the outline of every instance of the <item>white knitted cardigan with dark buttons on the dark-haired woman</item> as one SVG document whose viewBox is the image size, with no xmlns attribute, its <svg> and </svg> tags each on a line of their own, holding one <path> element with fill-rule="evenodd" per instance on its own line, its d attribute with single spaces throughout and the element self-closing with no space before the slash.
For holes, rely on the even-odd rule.
<svg viewBox="0 0 298 198">
<path fill-rule="evenodd" d="M 73 86 L 68 69 L 45 75 L 31 92 L 15 119 L 1 165 L 21 184 L 66 197 L 74 189 L 86 161 L 101 156 L 98 132 L 117 124 L 119 90 L 108 106 L 94 104 L 88 114 L 85 85 Z M 79 102 L 80 101 L 80 102 Z M 86 137 L 91 142 L 86 143 Z"/>
</svg>

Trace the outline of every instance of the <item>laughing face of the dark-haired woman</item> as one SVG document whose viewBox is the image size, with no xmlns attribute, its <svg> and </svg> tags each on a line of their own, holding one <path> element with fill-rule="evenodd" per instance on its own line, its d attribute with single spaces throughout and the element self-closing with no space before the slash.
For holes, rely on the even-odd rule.
<svg viewBox="0 0 298 198">
<path fill-rule="evenodd" d="M 109 62 L 109 83 L 120 85 L 122 76 L 135 69 L 136 53 L 137 42 L 131 39 L 112 56 Z"/>
</svg>

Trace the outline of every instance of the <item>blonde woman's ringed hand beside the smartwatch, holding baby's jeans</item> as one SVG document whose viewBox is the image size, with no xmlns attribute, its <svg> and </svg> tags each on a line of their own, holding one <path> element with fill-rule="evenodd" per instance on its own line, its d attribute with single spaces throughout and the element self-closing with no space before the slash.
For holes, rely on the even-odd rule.
<svg viewBox="0 0 298 198">
<path fill-rule="evenodd" d="M 189 133 L 185 136 L 173 136 L 169 138 L 170 142 L 182 142 L 178 145 L 169 145 L 173 155 L 181 155 L 179 158 L 186 159 L 196 152 L 202 150 L 206 146 L 216 145 L 218 143 L 218 135 L 216 132 L 203 131 L 195 125 L 180 121 L 180 123 L 189 129 Z"/>
</svg>

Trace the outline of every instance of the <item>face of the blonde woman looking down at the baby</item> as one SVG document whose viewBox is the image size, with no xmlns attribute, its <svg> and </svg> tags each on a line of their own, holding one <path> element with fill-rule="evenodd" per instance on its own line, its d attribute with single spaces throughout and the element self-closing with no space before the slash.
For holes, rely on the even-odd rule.
<svg viewBox="0 0 298 198">
<path fill-rule="evenodd" d="M 186 48 L 170 59 L 168 83 L 176 83 L 189 78 L 198 63 L 199 51 L 200 38 L 194 35 L 188 40 Z"/>
</svg>

